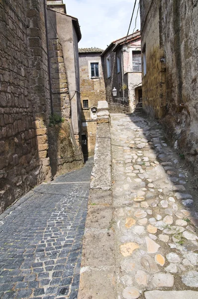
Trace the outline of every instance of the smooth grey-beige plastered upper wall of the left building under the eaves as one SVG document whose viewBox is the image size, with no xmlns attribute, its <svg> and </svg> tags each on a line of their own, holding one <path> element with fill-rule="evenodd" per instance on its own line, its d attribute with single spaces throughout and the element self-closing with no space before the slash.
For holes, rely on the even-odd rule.
<svg viewBox="0 0 198 299">
<path fill-rule="evenodd" d="M 50 6 L 49 6 L 50 7 Z M 55 8 L 53 8 L 55 9 Z M 67 84 L 70 92 L 71 119 L 73 131 L 81 147 L 81 100 L 80 100 L 80 82 L 79 82 L 79 55 L 78 41 L 81 34 L 77 30 L 78 19 L 58 11 L 47 9 L 47 26 L 49 39 L 60 40 L 67 74 Z M 80 28 L 79 28 L 80 30 Z M 78 32 L 78 35 L 77 35 Z"/>
</svg>

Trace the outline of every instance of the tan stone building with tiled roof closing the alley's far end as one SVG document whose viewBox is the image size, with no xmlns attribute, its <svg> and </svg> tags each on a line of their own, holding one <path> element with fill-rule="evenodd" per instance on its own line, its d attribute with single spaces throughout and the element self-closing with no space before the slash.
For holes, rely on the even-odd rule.
<svg viewBox="0 0 198 299">
<path fill-rule="evenodd" d="M 79 49 L 82 109 L 82 148 L 85 156 L 94 154 L 97 130 L 97 107 L 105 101 L 105 86 L 98 48 Z"/>
</svg>

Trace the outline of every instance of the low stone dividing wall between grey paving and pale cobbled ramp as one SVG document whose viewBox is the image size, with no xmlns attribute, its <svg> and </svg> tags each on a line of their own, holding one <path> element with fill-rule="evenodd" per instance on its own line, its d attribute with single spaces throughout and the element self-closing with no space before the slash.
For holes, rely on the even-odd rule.
<svg viewBox="0 0 198 299">
<path fill-rule="evenodd" d="M 109 123 L 108 103 L 100 101 L 78 299 L 116 298 Z"/>
</svg>

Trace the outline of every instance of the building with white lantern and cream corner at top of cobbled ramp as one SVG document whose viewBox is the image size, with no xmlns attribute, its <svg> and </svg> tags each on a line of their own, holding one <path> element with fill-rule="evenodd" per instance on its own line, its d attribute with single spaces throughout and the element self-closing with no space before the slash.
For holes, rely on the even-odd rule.
<svg viewBox="0 0 198 299">
<path fill-rule="evenodd" d="M 108 103 L 122 103 L 130 111 L 141 106 L 141 35 L 136 31 L 109 44 L 101 54 L 106 101 Z M 113 97 L 115 87 L 117 96 Z M 113 104 L 116 106 L 115 104 Z M 110 104 L 112 107 L 112 104 Z M 126 109 L 125 111 L 129 111 Z"/>
</svg>

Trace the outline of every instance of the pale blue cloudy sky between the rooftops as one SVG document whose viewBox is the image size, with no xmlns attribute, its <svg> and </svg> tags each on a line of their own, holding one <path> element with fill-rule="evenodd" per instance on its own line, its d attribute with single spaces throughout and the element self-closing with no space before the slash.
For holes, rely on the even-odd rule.
<svg viewBox="0 0 198 299">
<path fill-rule="evenodd" d="M 67 14 L 79 19 L 82 39 L 79 48 L 105 49 L 113 40 L 126 36 L 135 0 L 63 0 Z M 135 27 L 139 1 L 129 34 Z M 135 31 L 140 29 L 138 12 Z"/>
</svg>

